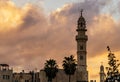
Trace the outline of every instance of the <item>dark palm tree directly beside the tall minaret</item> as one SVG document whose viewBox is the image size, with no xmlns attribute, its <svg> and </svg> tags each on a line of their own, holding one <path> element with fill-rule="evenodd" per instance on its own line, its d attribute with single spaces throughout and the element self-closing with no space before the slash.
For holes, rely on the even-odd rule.
<svg viewBox="0 0 120 82">
<path fill-rule="evenodd" d="M 71 75 L 74 75 L 77 66 L 74 56 L 71 55 L 70 57 L 64 57 L 62 66 L 65 73 L 69 76 L 69 82 L 70 82 Z"/>
</svg>

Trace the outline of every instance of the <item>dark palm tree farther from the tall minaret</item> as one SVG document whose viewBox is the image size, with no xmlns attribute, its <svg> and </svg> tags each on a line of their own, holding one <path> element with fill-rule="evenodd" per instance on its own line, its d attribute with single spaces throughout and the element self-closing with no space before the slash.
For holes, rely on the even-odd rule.
<svg viewBox="0 0 120 82">
<path fill-rule="evenodd" d="M 58 65 L 54 59 L 46 60 L 44 71 L 48 77 L 48 82 L 52 82 L 58 72 Z"/>
</svg>

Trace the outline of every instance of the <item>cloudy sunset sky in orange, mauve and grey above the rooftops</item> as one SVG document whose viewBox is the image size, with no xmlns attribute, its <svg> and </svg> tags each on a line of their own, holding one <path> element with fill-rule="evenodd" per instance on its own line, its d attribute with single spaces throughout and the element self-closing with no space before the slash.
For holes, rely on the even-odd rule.
<svg viewBox="0 0 120 82">
<path fill-rule="evenodd" d="M 65 56 L 76 57 L 80 9 L 87 24 L 89 80 L 99 82 L 110 46 L 120 58 L 119 0 L 0 0 L 0 63 L 14 71 L 43 69 L 47 59 L 61 68 Z"/>
</svg>

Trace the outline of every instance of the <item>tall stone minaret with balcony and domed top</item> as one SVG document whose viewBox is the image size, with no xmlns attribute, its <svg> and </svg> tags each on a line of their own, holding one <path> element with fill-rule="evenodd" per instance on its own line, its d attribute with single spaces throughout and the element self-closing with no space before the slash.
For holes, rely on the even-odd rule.
<svg viewBox="0 0 120 82">
<path fill-rule="evenodd" d="M 88 71 L 87 71 L 87 40 L 86 35 L 86 21 L 82 15 L 83 10 L 81 10 L 81 16 L 78 19 L 77 24 L 77 82 L 88 82 Z"/>
</svg>

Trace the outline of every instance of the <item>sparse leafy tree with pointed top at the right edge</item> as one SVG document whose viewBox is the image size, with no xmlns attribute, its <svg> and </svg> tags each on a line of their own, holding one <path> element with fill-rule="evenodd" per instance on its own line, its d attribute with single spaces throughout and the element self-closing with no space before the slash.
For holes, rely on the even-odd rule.
<svg viewBox="0 0 120 82">
<path fill-rule="evenodd" d="M 106 82 L 115 82 L 115 80 L 120 80 L 120 73 L 118 70 L 118 67 L 120 66 L 120 63 L 118 63 L 119 60 L 116 59 L 114 53 L 111 52 L 109 46 L 108 48 L 108 67 L 106 67 L 107 70 L 107 77 Z"/>
</svg>

